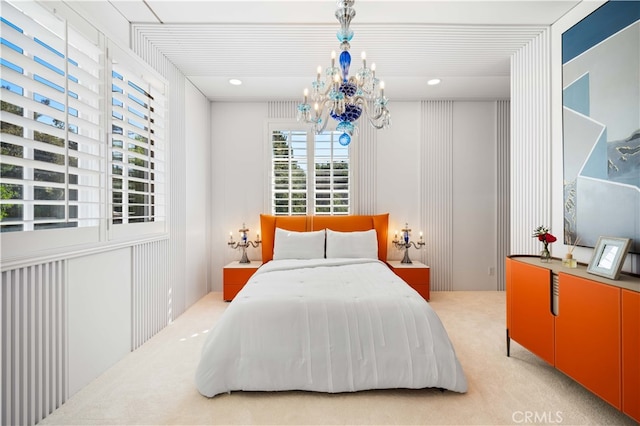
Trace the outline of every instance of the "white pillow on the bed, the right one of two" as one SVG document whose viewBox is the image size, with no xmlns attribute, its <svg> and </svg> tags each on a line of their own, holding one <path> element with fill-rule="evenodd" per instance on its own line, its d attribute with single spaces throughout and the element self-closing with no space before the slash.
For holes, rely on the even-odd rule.
<svg viewBox="0 0 640 426">
<path fill-rule="evenodd" d="M 377 259 L 376 230 L 338 232 L 327 229 L 327 259 L 337 257 Z"/>
</svg>

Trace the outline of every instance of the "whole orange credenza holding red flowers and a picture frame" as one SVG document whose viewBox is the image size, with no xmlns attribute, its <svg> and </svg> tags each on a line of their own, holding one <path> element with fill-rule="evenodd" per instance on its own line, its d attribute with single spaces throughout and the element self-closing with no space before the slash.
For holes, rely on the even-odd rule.
<svg viewBox="0 0 640 426">
<path fill-rule="evenodd" d="M 507 355 L 513 339 L 640 422 L 640 277 L 532 256 L 508 257 L 505 272 Z"/>
</svg>

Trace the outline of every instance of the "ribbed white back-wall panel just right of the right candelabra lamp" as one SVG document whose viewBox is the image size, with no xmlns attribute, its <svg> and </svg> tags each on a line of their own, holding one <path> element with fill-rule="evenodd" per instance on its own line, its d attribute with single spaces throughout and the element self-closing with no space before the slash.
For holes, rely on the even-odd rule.
<svg viewBox="0 0 640 426">
<path fill-rule="evenodd" d="M 420 260 L 431 267 L 432 290 L 453 290 L 453 101 L 422 102 L 421 133 Z"/>
</svg>

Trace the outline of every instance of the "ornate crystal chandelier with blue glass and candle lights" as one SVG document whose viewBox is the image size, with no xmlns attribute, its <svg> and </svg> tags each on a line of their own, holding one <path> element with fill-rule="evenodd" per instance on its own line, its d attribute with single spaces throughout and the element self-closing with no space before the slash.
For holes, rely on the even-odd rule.
<svg viewBox="0 0 640 426">
<path fill-rule="evenodd" d="M 376 129 L 383 129 L 391 124 L 391 115 L 387 109 L 387 98 L 384 96 L 384 82 L 376 77 L 376 65 L 367 67 L 367 57 L 362 52 L 362 68 L 355 76 L 349 76 L 351 54 L 349 42 L 353 38 L 353 31 L 349 24 L 356 11 L 353 9 L 355 0 L 338 1 L 336 18 L 340 22 L 337 32 L 340 41 L 340 67 L 336 66 L 336 53 L 331 52 L 331 66 L 322 73 L 322 66 L 318 67 L 316 80 L 309 89 L 304 89 L 304 102 L 298 105 L 298 121 L 311 124 L 316 133 L 325 130 L 329 117 L 338 122 L 336 130 L 342 132 L 339 142 L 343 146 L 349 145 L 351 136 L 357 130 L 355 123 L 362 113 L 369 123 Z M 313 110 L 309 104 L 309 96 L 314 103 Z M 371 107 L 372 104 L 373 106 Z M 370 110 L 371 109 L 371 110 Z"/>
</svg>

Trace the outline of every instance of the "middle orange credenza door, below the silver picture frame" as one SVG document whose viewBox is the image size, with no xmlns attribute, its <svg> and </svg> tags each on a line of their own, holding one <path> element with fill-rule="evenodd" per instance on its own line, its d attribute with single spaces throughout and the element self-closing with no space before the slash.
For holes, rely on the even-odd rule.
<svg viewBox="0 0 640 426">
<path fill-rule="evenodd" d="M 558 275 L 556 367 L 620 409 L 620 288 Z"/>
</svg>

